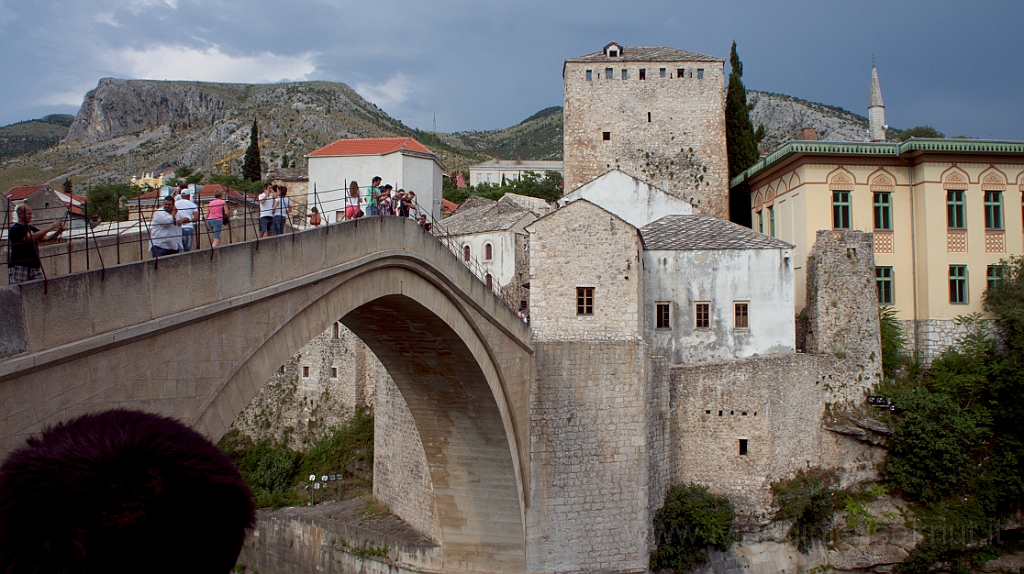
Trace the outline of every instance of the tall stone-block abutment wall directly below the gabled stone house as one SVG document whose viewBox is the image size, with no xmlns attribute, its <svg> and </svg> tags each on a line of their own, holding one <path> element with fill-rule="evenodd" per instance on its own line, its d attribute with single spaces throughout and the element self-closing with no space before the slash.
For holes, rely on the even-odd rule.
<svg viewBox="0 0 1024 574">
<path fill-rule="evenodd" d="M 668 393 L 649 383 L 652 371 L 666 372 L 664 362 L 652 368 L 642 341 L 535 342 L 535 349 L 527 569 L 642 571 L 650 503 L 660 505 L 667 488 L 657 467 Z"/>
</svg>

